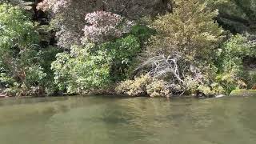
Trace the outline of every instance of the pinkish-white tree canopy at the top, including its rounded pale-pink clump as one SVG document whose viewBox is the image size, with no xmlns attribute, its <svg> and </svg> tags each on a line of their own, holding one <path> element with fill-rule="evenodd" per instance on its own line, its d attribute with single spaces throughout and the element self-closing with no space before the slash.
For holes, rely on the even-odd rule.
<svg viewBox="0 0 256 144">
<path fill-rule="evenodd" d="M 52 23 L 58 26 L 58 46 L 70 49 L 72 45 L 81 45 L 84 36 L 91 38 L 92 42 L 109 40 L 106 37 L 120 37 L 129 30 L 122 26 L 131 25 L 129 21 L 124 22 L 125 18 L 121 15 L 134 19 L 147 14 L 158 14 L 158 10 L 165 10 L 160 8 L 164 6 L 166 2 L 162 0 L 43 0 L 37 8 L 50 11 L 54 18 Z M 95 24 L 94 21 L 101 23 Z M 125 25 L 122 25 L 123 22 Z"/>
</svg>

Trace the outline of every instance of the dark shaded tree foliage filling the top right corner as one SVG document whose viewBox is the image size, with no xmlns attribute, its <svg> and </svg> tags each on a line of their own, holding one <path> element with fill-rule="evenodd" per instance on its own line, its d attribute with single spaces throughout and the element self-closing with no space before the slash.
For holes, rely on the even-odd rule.
<svg viewBox="0 0 256 144">
<path fill-rule="evenodd" d="M 255 33 L 256 2 L 254 0 L 207 0 L 208 6 L 218 9 L 216 18 L 226 30 L 233 33 Z"/>
</svg>

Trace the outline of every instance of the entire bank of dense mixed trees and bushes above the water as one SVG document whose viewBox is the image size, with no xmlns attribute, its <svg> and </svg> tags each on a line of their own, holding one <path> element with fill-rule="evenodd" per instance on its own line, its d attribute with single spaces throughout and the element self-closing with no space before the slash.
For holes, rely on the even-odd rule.
<svg viewBox="0 0 256 144">
<path fill-rule="evenodd" d="M 2 0 L 2 90 L 208 97 L 254 89 L 255 8 L 254 0 Z"/>
</svg>

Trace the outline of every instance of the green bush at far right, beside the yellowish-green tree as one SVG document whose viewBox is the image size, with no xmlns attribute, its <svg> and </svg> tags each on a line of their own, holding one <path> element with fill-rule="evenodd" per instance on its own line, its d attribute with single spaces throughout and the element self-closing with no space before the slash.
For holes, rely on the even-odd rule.
<svg viewBox="0 0 256 144">
<path fill-rule="evenodd" d="M 217 82 L 221 83 L 227 93 L 232 90 L 246 88 L 250 85 L 243 59 L 255 58 L 256 47 L 246 36 L 237 34 L 232 36 L 221 49 L 218 50 L 216 66 L 218 67 Z"/>
</svg>

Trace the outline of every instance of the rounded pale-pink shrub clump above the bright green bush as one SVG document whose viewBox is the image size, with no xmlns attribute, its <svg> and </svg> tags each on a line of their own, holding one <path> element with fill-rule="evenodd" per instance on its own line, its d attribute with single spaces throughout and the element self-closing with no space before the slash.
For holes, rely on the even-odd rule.
<svg viewBox="0 0 256 144">
<path fill-rule="evenodd" d="M 84 41 L 102 43 L 120 38 L 124 33 L 130 32 L 133 22 L 118 14 L 105 11 L 96 11 L 86 14 L 84 27 Z"/>
</svg>

